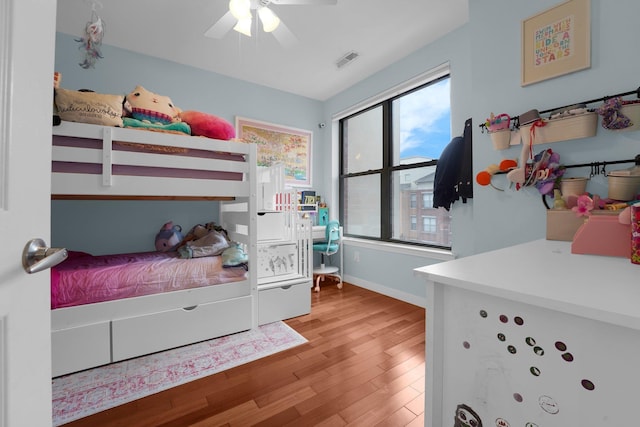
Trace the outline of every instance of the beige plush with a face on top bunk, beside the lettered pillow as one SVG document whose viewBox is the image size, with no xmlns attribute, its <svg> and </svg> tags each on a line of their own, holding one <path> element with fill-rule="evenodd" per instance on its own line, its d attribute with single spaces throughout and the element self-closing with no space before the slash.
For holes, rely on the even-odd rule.
<svg viewBox="0 0 640 427">
<path fill-rule="evenodd" d="M 136 86 L 125 97 L 124 108 L 128 115 L 145 123 L 168 125 L 180 121 L 180 109 L 168 96 L 150 92 Z"/>
</svg>

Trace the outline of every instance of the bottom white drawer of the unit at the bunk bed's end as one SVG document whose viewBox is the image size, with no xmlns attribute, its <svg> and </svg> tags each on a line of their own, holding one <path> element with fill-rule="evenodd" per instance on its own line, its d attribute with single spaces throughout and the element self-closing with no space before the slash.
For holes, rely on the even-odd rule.
<svg viewBox="0 0 640 427">
<path fill-rule="evenodd" d="M 311 313 L 310 279 L 258 286 L 258 325 Z"/>
</svg>

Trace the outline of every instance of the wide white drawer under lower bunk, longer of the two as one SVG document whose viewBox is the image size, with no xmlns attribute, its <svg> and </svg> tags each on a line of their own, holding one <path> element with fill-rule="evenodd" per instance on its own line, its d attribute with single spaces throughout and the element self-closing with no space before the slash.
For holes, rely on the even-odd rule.
<svg viewBox="0 0 640 427">
<path fill-rule="evenodd" d="M 251 329 L 251 296 L 111 322 L 113 361 Z"/>
</svg>

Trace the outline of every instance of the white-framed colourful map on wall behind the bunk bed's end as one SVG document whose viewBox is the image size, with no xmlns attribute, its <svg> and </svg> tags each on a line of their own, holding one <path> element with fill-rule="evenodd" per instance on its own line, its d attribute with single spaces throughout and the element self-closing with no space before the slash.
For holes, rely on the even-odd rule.
<svg viewBox="0 0 640 427">
<path fill-rule="evenodd" d="M 258 166 L 283 163 L 286 185 L 311 187 L 311 131 L 236 117 L 236 133 L 257 145 Z"/>
</svg>

